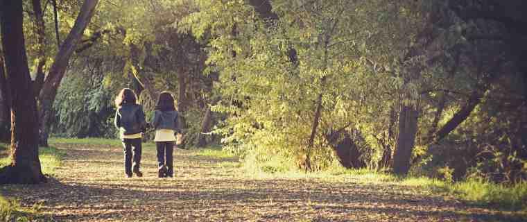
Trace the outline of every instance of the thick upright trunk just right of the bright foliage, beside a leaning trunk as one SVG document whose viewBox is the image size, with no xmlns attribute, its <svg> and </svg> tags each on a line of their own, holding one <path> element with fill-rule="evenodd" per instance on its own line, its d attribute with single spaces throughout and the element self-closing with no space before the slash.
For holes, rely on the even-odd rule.
<svg viewBox="0 0 527 222">
<path fill-rule="evenodd" d="M 393 155 L 393 171 L 397 175 L 404 176 L 410 170 L 410 159 L 415 143 L 415 134 L 417 133 L 418 117 L 419 114 L 413 106 L 401 106 L 397 148 Z"/>
</svg>

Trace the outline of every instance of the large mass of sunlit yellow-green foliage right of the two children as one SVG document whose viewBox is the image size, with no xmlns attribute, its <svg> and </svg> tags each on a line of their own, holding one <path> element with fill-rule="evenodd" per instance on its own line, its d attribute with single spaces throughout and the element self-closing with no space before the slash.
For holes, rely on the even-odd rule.
<svg viewBox="0 0 527 222">
<path fill-rule="evenodd" d="M 376 167 L 379 136 L 388 130 L 388 118 L 382 118 L 389 116 L 386 100 L 389 104 L 395 99 L 390 88 L 401 80 L 369 69 L 366 55 L 379 62 L 397 60 L 397 49 L 406 45 L 386 41 L 411 33 L 383 31 L 394 22 L 405 24 L 408 31 L 419 26 L 412 14 L 418 4 L 392 8 L 383 1 L 273 1 L 279 19 L 266 22 L 243 1 L 198 2 L 200 10 L 182 24 L 196 37 L 210 38 L 207 62 L 221 73 L 218 91 L 224 99 L 214 110 L 228 116 L 216 133 L 223 135 L 227 148 L 251 161 L 278 155 L 298 167 L 310 162 L 311 169 L 326 169 L 335 158 L 327 135 L 345 127 L 365 135 L 365 158 L 370 168 Z M 397 10 L 405 10 L 408 17 Z M 377 12 L 385 15 L 381 22 L 370 17 Z M 389 44 L 370 42 L 372 36 Z M 289 61 L 289 49 L 297 51 L 297 65 Z M 319 95 L 320 126 L 309 147 Z"/>
</svg>

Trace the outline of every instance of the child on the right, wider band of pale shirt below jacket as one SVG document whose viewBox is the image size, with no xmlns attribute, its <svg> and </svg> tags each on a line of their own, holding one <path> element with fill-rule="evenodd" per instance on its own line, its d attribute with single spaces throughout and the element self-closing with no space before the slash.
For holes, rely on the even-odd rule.
<svg viewBox="0 0 527 222">
<path fill-rule="evenodd" d="M 173 177 L 173 146 L 178 129 L 178 111 L 170 92 L 162 92 L 157 99 L 152 126 L 155 128 L 154 142 L 157 147 L 159 178 Z"/>
</svg>

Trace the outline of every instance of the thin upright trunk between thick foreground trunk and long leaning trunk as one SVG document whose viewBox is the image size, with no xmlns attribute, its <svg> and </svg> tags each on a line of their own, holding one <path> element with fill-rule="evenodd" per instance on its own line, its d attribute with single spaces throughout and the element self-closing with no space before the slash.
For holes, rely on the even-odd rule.
<svg viewBox="0 0 527 222">
<path fill-rule="evenodd" d="M 44 15 L 40 0 L 33 0 L 33 12 L 35 12 L 35 31 L 37 33 L 37 70 L 33 81 L 35 96 L 38 96 L 42 84 L 44 84 L 44 65 L 46 65 L 46 33 L 44 33 Z"/>
</svg>

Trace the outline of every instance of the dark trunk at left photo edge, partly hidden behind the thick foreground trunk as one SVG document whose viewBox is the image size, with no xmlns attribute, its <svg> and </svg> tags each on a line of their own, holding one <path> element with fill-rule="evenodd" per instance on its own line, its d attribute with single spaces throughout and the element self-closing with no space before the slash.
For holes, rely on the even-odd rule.
<svg viewBox="0 0 527 222">
<path fill-rule="evenodd" d="M 0 50 L 0 142 L 11 139 L 11 101 L 9 85 L 3 69 L 3 53 Z"/>
</svg>

